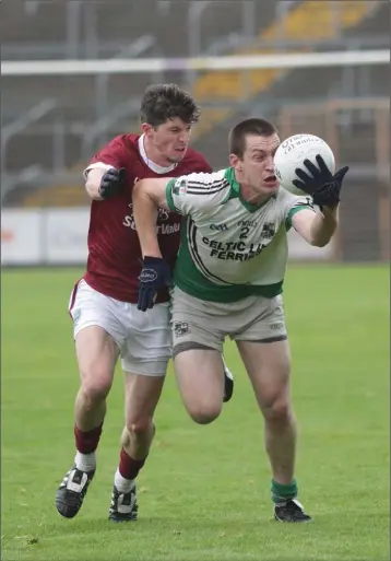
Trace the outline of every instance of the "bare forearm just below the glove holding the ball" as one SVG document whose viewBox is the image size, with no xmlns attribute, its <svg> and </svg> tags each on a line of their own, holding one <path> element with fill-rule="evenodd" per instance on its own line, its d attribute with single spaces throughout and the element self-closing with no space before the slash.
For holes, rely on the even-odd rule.
<svg viewBox="0 0 391 561">
<path fill-rule="evenodd" d="M 304 209 L 294 214 L 292 225 L 310 245 L 324 247 L 337 226 L 337 207 L 335 209 L 324 207 L 322 212 Z"/>
</svg>

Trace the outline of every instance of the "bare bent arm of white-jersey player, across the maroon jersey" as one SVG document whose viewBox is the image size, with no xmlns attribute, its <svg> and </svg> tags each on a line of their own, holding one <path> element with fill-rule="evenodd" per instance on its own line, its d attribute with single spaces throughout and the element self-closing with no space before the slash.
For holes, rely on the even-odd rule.
<svg viewBox="0 0 391 561">
<path fill-rule="evenodd" d="M 140 179 L 133 187 L 133 217 L 143 257 L 162 257 L 156 233 L 157 209 L 168 209 L 169 182 L 170 177 Z"/>
</svg>

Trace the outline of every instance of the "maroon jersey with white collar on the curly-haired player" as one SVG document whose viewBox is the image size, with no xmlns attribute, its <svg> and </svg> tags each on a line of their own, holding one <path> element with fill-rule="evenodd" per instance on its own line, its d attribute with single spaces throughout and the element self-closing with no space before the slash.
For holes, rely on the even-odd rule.
<svg viewBox="0 0 391 561">
<path fill-rule="evenodd" d="M 211 172 L 205 159 L 188 149 L 183 160 L 167 173 L 156 173 L 145 163 L 139 148 L 140 135 L 121 135 L 92 159 L 93 167 L 125 167 L 125 189 L 112 199 L 92 201 L 88 229 L 88 260 L 85 281 L 95 290 L 122 302 L 138 301 L 138 278 L 142 255 L 132 211 L 132 189 L 137 179 L 178 177 L 196 172 Z M 163 257 L 174 267 L 180 241 L 180 217 L 158 210 L 157 237 Z M 161 291 L 156 302 L 166 302 L 168 291 Z"/>
</svg>

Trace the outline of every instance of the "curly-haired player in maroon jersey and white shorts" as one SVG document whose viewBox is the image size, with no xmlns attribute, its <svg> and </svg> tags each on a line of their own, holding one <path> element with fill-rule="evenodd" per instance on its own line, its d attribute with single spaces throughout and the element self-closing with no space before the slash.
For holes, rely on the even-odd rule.
<svg viewBox="0 0 391 561">
<path fill-rule="evenodd" d="M 76 455 L 56 494 L 56 507 L 67 518 L 80 511 L 95 475 L 106 398 L 120 357 L 126 425 L 109 518 L 137 519 L 134 481 L 154 436 L 153 416 L 171 348 L 168 290 L 158 293 L 157 305 L 146 314 L 137 307 L 142 255 L 133 221 L 132 188 L 141 178 L 211 171 L 205 159 L 188 148 L 191 127 L 198 119 L 194 101 L 177 85 L 151 86 L 141 104 L 142 135 L 115 138 L 84 172 L 92 199 L 88 260 L 69 305 L 81 377 L 75 400 Z M 174 266 L 180 217 L 162 209 L 156 227 L 162 253 Z M 225 365 L 224 370 L 227 401 L 233 377 Z"/>
</svg>

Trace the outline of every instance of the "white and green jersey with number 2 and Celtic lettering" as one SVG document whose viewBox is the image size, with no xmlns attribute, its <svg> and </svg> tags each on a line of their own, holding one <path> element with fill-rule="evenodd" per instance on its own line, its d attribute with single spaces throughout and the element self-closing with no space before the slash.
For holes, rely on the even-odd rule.
<svg viewBox="0 0 391 561">
<path fill-rule="evenodd" d="M 170 210 L 185 217 L 174 280 L 183 292 L 211 302 L 282 292 L 292 217 L 313 210 L 310 197 L 282 187 L 262 204 L 240 195 L 232 167 L 171 179 Z"/>
</svg>

